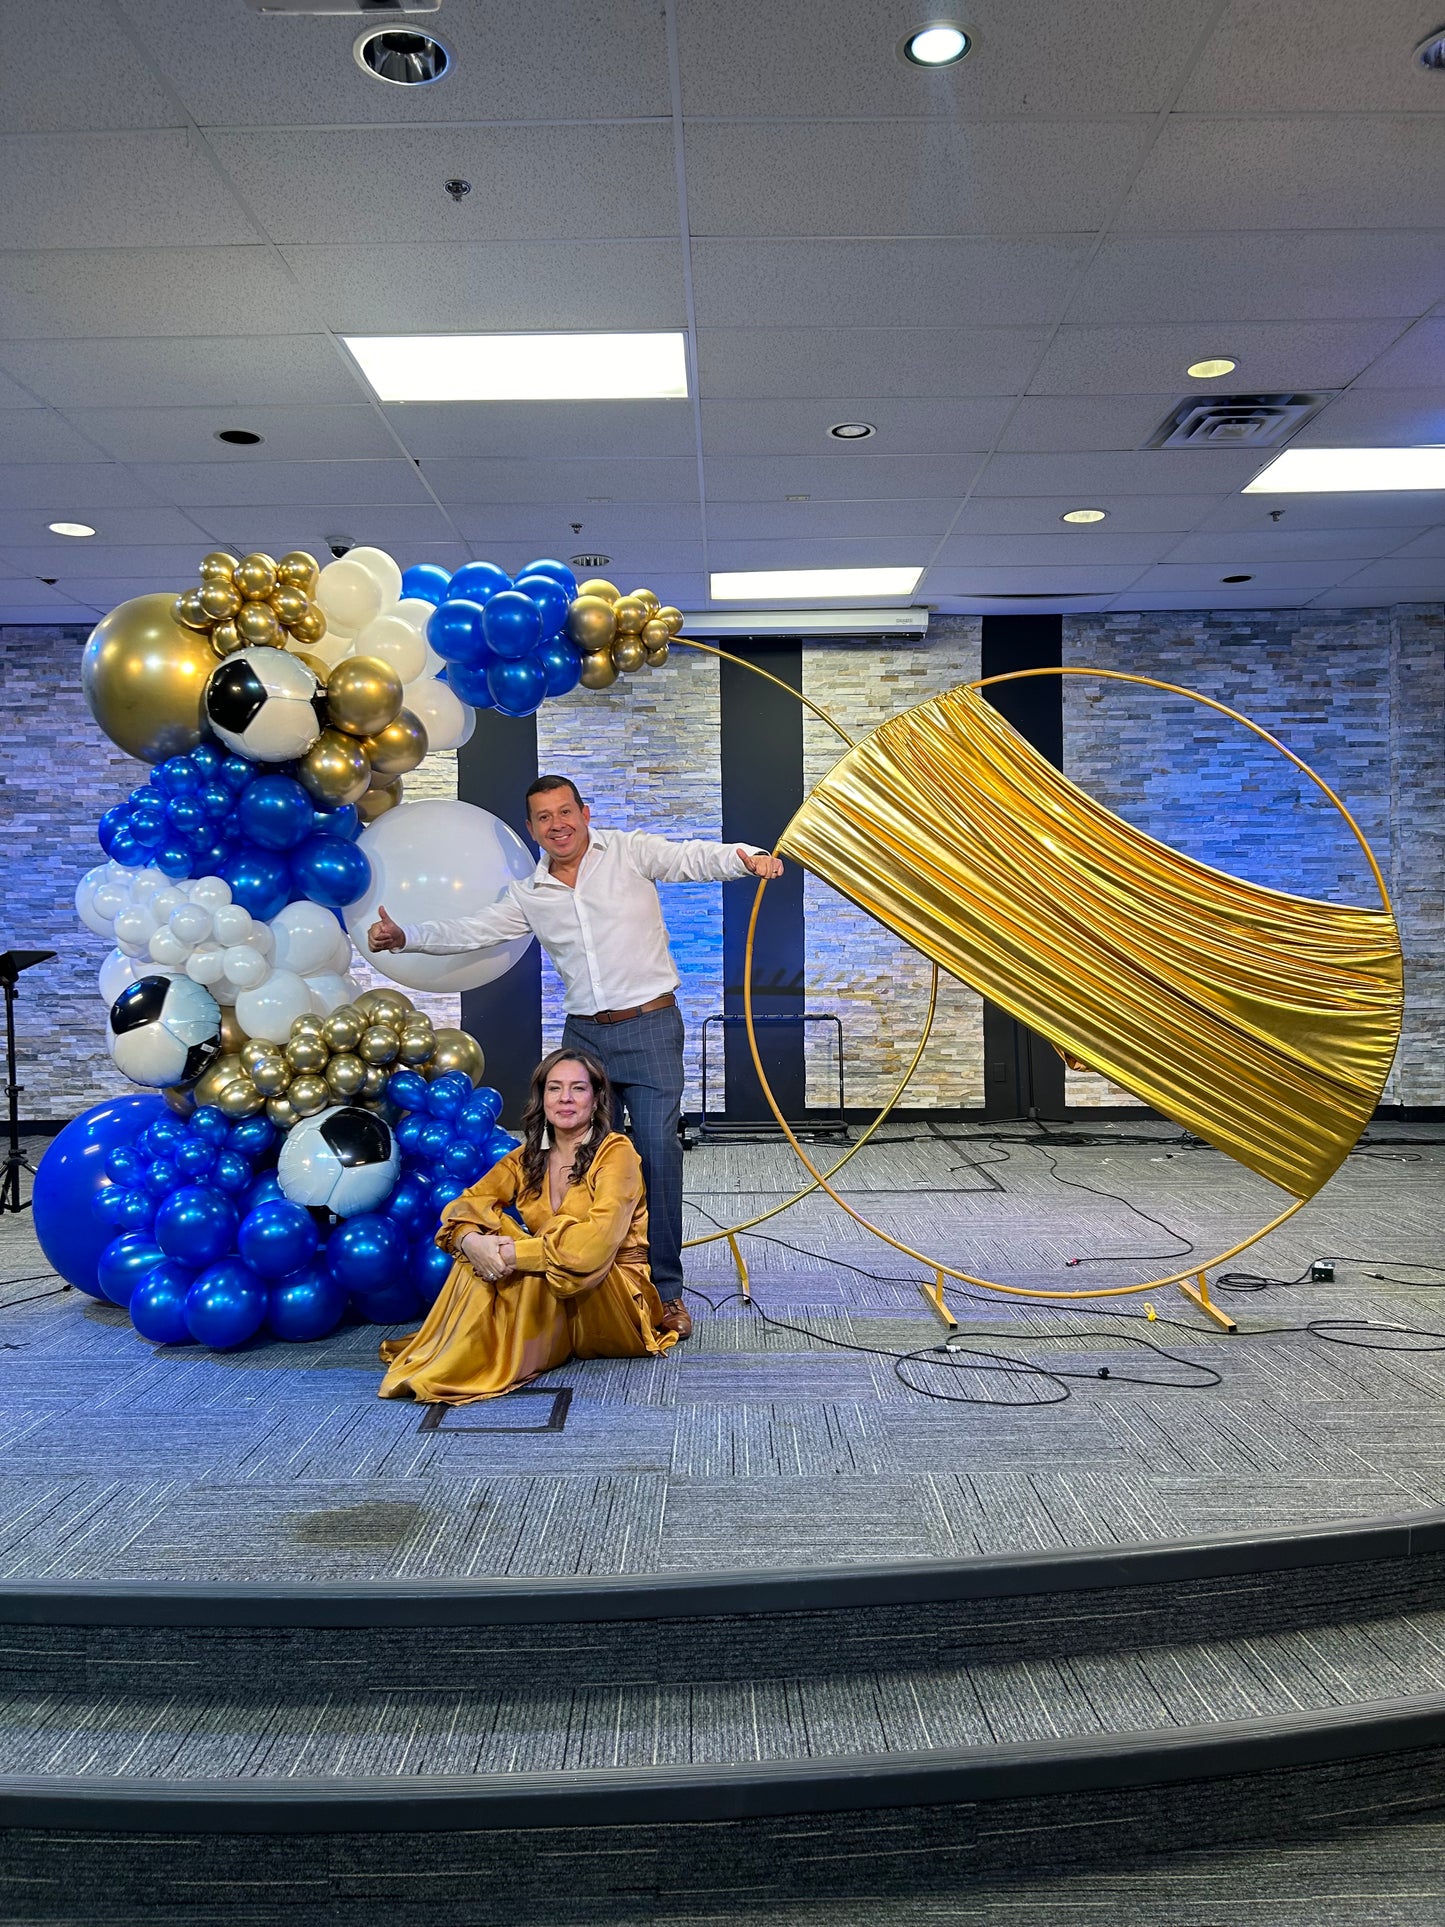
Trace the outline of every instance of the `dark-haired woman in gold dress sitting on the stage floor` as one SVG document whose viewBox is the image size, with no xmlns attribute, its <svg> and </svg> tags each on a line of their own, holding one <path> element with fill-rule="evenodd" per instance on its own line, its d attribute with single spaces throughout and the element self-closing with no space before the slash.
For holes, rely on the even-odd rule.
<svg viewBox="0 0 1445 1927">
<path fill-rule="evenodd" d="M 601 1064 L 576 1050 L 543 1058 L 522 1129 L 443 1210 L 437 1245 L 457 1262 L 422 1330 L 381 1345 L 380 1397 L 470 1405 L 568 1359 L 645 1359 L 676 1343 L 647 1272 L 642 1164 L 613 1129 Z"/>
</svg>

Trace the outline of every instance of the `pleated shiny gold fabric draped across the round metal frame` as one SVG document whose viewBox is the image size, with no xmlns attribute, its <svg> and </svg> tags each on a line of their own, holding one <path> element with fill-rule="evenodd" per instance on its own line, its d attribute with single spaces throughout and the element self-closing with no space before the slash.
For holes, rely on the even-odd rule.
<svg viewBox="0 0 1445 1927">
<path fill-rule="evenodd" d="M 977 690 L 873 730 L 778 844 L 1060 1050 L 1295 1197 L 1395 1056 L 1387 910 L 1266 890 L 1092 802 Z"/>
</svg>

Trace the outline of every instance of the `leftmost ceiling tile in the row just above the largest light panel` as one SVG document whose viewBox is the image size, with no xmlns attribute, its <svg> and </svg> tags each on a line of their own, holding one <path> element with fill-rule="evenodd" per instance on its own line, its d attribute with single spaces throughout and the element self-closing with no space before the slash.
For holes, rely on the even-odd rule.
<svg viewBox="0 0 1445 1927">
<path fill-rule="evenodd" d="M 289 333 L 304 308 L 270 247 L 29 249 L 0 256 L 0 337 Z"/>
</svg>

